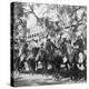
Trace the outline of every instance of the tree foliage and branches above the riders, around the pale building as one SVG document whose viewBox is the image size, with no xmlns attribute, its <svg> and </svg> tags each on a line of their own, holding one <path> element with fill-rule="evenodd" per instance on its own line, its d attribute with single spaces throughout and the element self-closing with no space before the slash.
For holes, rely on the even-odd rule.
<svg viewBox="0 0 89 89">
<path fill-rule="evenodd" d="M 28 8 L 28 9 L 27 9 Z M 14 3 L 14 37 L 27 36 L 27 20 L 22 21 L 21 17 L 32 14 L 37 19 L 37 26 L 46 29 L 49 36 L 56 37 L 58 33 L 69 32 L 70 38 L 77 38 L 77 33 L 86 38 L 87 33 L 87 7 L 47 4 L 47 3 Z M 26 24 L 24 24 L 26 23 Z M 18 28 L 19 26 L 20 29 Z M 34 27 L 37 27 L 34 26 Z M 76 36 L 76 37 L 75 37 Z"/>
</svg>

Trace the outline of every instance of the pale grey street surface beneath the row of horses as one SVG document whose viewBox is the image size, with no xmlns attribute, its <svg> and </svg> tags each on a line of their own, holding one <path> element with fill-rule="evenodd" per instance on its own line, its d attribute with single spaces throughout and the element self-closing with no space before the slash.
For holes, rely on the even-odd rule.
<svg viewBox="0 0 89 89">
<path fill-rule="evenodd" d="M 61 85 L 61 83 L 79 83 L 85 82 L 83 79 L 79 81 L 71 81 L 70 78 L 62 78 L 60 77 L 59 80 L 55 80 L 52 76 L 42 76 L 42 75 L 28 75 L 28 73 L 20 73 L 19 77 L 14 79 L 16 87 L 23 87 L 23 86 L 43 86 L 43 85 Z"/>
</svg>

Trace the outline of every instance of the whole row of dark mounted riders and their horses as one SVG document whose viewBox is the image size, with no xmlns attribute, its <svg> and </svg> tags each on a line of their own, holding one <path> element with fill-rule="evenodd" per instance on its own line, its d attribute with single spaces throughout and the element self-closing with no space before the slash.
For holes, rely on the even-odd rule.
<svg viewBox="0 0 89 89">
<path fill-rule="evenodd" d="M 47 38 L 46 43 L 40 47 L 28 49 L 29 44 L 24 42 L 22 49 L 13 58 L 13 71 L 22 71 L 26 69 L 24 62 L 29 66 L 29 71 L 32 75 L 38 70 L 39 61 L 42 65 L 42 75 L 48 75 L 48 66 L 51 65 L 51 75 L 59 79 L 61 69 L 69 71 L 69 77 L 72 79 L 87 79 L 87 49 L 86 41 L 82 36 L 79 36 L 73 42 L 66 38 L 59 39 L 59 47 Z M 63 67 L 62 67 L 63 66 Z"/>
</svg>

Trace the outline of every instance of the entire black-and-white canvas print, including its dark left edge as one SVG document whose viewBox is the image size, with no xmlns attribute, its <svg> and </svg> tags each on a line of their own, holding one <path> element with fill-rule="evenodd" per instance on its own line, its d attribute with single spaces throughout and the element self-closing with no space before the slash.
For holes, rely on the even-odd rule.
<svg viewBox="0 0 89 89">
<path fill-rule="evenodd" d="M 11 86 L 87 82 L 87 7 L 11 2 Z"/>
</svg>

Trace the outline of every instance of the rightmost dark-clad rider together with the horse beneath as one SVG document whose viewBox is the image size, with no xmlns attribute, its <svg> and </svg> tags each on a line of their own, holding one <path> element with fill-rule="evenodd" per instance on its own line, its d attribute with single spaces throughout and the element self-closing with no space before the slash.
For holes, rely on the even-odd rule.
<svg viewBox="0 0 89 89">
<path fill-rule="evenodd" d="M 71 75 L 75 77 L 75 79 L 79 79 L 81 76 L 81 69 L 83 66 L 83 40 L 82 36 L 79 36 L 73 43 L 75 55 L 72 59 L 72 68 L 71 68 Z M 72 79 L 71 76 L 71 79 Z"/>
</svg>

